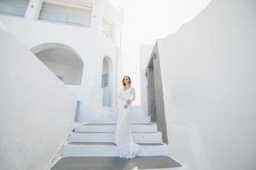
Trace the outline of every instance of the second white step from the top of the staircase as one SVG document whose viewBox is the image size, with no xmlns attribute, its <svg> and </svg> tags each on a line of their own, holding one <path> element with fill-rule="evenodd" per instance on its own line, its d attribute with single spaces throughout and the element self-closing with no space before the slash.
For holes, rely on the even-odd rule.
<svg viewBox="0 0 256 170">
<path fill-rule="evenodd" d="M 131 132 L 156 133 L 157 126 L 154 123 L 131 124 Z M 108 123 L 89 123 L 77 126 L 74 132 L 115 132 L 116 125 Z"/>
</svg>

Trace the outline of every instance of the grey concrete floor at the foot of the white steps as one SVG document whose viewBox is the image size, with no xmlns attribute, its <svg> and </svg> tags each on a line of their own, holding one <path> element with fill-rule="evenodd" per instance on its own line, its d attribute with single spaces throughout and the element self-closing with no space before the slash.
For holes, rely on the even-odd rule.
<svg viewBox="0 0 256 170">
<path fill-rule="evenodd" d="M 144 156 L 126 160 L 116 156 L 61 157 L 50 170 L 189 170 L 170 156 Z"/>
</svg>

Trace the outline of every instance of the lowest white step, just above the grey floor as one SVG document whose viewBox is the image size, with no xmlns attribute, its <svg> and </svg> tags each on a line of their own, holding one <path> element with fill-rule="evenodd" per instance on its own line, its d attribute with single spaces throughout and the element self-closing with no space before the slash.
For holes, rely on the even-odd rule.
<svg viewBox="0 0 256 170">
<path fill-rule="evenodd" d="M 140 144 L 138 156 L 167 156 L 167 144 Z M 113 143 L 67 143 L 61 150 L 62 156 L 118 156 L 117 147 Z"/>
</svg>

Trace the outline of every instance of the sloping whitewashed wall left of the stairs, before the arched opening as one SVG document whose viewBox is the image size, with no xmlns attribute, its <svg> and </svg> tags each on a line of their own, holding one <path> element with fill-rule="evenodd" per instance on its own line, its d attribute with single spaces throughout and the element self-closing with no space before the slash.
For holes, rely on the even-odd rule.
<svg viewBox="0 0 256 170">
<path fill-rule="evenodd" d="M 73 130 L 77 99 L 0 23 L 0 169 L 46 169 Z"/>
</svg>

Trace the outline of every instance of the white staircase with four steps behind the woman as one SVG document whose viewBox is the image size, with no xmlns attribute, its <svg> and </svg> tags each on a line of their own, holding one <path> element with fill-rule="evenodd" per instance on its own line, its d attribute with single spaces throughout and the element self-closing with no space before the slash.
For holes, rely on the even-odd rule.
<svg viewBox="0 0 256 170">
<path fill-rule="evenodd" d="M 70 133 L 61 150 L 62 156 L 118 156 L 113 143 L 116 117 L 105 117 L 92 123 L 80 123 Z M 168 145 L 162 142 L 162 133 L 157 131 L 149 116 L 131 117 L 131 133 L 141 145 L 139 156 L 167 156 Z"/>
</svg>

